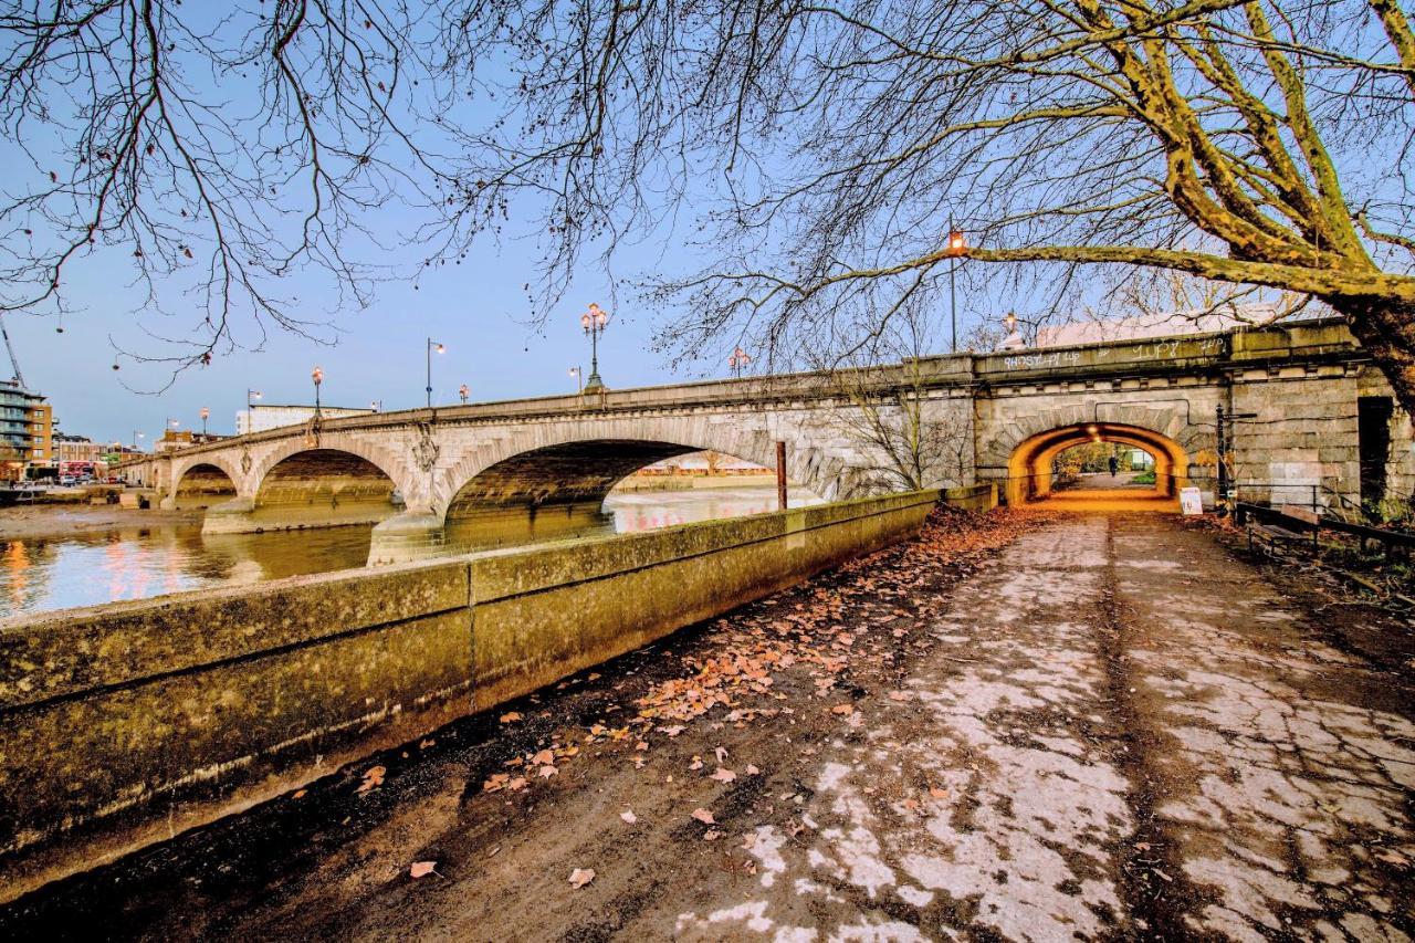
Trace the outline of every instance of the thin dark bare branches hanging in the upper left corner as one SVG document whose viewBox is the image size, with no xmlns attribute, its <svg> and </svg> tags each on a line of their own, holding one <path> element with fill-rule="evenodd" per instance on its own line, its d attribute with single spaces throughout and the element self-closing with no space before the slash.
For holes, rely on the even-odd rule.
<svg viewBox="0 0 1415 943">
<path fill-rule="evenodd" d="M 109 253 L 147 306 L 198 310 L 166 338 L 178 365 L 243 317 L 323 333 L 280 279 L 323 266 L 364 302 L 350 242 L 436 185 L 405 130 L 413 25 L 359 0 L 0 3 L 0 307 L 62 313 Z"/>
</svg>

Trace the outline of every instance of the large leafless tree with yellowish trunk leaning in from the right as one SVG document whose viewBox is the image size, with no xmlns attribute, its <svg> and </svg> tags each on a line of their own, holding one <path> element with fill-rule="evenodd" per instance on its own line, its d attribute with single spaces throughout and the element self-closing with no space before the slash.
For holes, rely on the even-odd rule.
<svg viewBox="0 0 1415 943">
<path fill-rule="evenodd" d="M 464 139 L 470 229 L 541 200 L 550 261 L 686 227 L 678 351 L 869 333 L 937 292 L 949 221 L 1039 307 L 1182 272 L 1322 299 L 1415 411 L 1415 34 L 1394 0 L 457 4 L 509 69 Z M 1102 270 L 1098 270 L 1102 269 Z M 1082 278 L 1081 273 L 1085 273 Z"/>
</svg>

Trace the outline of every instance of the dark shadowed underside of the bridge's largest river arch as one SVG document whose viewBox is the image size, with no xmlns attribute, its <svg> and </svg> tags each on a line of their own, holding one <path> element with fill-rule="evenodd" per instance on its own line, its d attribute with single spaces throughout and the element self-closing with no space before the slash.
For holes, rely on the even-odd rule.
<svg viewBox="0 0 1415 943">
<path fill-rule="evenodd" d="M 620 479 L 691 452 L 700 449 L 624 439 L 570 442 L 522 452 L 467 481 L 450 510 L 603 500 Z"/>
</svg>

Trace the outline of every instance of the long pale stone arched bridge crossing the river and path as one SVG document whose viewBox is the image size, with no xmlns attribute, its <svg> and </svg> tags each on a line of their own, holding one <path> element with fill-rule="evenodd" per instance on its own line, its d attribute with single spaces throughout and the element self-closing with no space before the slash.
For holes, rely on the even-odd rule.
<svg viewBox="0 0 1415 943">
<path fill-rule="evenodd" d="M 1153 455 L 1162 488 L 1211 488 L 1218 406 L 1254 413 L 1230 447 L 1240 481 L 1346 503 L 1415 481 L 1409 422 L 1334 320 L 330 419 L 123 473 L 167 507 L 208 507 L 208 534 L 376 524 L 371 562 L 391 562 L 437 552 L 463 521 L 572 532 L 624 476 L 702 449 L 770 467 L 785 442 L 787 476 L 826 500 L 900 490 L 890 452 L 914 409 L 916 484 L 995 480 L 1026 500 L 1061 450 L 1107 440 Z"/>
</svg>

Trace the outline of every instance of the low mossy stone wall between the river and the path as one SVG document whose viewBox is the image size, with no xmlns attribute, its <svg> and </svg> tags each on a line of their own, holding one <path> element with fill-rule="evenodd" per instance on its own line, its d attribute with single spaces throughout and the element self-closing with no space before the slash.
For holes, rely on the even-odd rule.
<svg viewBox="0 0 1415 943">
<path fill-rule="evenodd" d="M 937 491 L 0 623 L 0 899 L 918 528 Z"/>
</svg>

